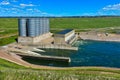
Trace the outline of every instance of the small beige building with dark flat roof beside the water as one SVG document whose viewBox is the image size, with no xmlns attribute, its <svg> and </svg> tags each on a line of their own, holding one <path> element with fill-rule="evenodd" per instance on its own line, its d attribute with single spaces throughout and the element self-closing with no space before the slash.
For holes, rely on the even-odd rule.
<svg viewBox="0 0 120 80">
<path fill-rule="evenodd" d="M 66 29 L 54 35 L 54 44 L 71 44 L 76 40 L 75 30 Z"/>
</svg>

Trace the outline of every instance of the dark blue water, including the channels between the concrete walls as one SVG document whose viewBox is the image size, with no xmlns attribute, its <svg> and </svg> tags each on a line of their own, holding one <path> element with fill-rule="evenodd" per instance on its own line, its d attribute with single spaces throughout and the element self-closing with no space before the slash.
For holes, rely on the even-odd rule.
<svg viewBox="0 0 120 80">
<path fill-rule="evenodd" d="M 77 41 L 78 51 L 47 49 L 42 55 L 69 56 L 71 63 L 47 60 L 26 59 L 28 62 L 47 66 L 75 67 L 101 66 L 120 68 L 120 43 L 102 41 Z"/>
</svg>

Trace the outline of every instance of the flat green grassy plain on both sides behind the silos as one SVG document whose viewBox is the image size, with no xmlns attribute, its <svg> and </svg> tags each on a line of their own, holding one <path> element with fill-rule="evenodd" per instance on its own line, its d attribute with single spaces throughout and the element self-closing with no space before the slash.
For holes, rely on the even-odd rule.
<svg viewBox="0 0 120 80">
<path fill-rule="evenodd" d="M 63 29 L 75 29 L 76 31 L 89 31 L 99 28 L 119 28 L 120 17 L 97 17 L 97 18 L 50 18 L 51 32 L 57 33 Z M 118 30 L 118 29 L 117 29 Z M 108 30 L 115 33 L 116 30 Z M 9 35 L 13 35 L 13 38 Z M 0 18 L 0 46 L 14 42 L 18 35 L 17 18 Z M 6 41 L 3 42 L 8 36 Z"/>
</svg>

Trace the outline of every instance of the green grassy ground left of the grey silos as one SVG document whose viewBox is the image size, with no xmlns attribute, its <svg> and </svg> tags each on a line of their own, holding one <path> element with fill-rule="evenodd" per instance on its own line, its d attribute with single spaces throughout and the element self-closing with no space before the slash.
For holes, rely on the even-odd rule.
<svg viewBox="0 0 120 80">
<path fill-rule="evenodd" d="M 0 18 L 0 37 L 18 34 L 18 23 L 16 18 Z M 0 46 L 15 42 L 17 36 L 0 39 Z"/>
</svg>

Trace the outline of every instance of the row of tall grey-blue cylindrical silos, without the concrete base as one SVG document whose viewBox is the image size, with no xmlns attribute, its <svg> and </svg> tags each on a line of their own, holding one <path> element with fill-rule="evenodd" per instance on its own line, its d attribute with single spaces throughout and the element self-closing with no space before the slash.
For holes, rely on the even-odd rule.
<svg viewBox="0 0 120 80">
<path fill-rule="evenodd" d="M 49 18 L 20 18 L 19 36 L 35 37 L 49 32 Z"/>
</svg>

